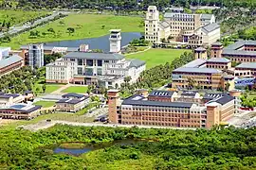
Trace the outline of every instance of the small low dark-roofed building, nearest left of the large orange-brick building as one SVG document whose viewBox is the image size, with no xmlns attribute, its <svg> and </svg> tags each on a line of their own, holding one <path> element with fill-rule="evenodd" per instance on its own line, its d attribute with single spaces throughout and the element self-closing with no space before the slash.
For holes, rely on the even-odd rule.
<svg viewBox="0 0 256 170">
<path fill-rule="evenodd" d="M 56 102 L 56 110 L 76 112 L 85 108 L 89 102 L 89 96 L 79 93 L 65 93 L 63 99 Z"/>
</svg>

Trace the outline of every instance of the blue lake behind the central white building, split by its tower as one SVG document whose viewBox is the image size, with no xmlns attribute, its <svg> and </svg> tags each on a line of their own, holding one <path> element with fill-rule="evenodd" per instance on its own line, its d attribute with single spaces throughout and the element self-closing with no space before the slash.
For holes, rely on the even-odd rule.
<svg viewBox="0 0 256 170">
<path fill-rule="evenodd" d="M 121 33 L 121 46 L 127 45 L 134 39 L 139 39 L 142 36 L 139 32 L 122 32 Z M 64 46 L 64 47 L 78 47 L 81 44 L 89 44 L 89 49 L 101 49 L 104 52 L 109 52 L 109 35 L 101 36 L 98 38 L 61 41 L 61 42 L 46 42 L 46 46 Z"/>
</svg>

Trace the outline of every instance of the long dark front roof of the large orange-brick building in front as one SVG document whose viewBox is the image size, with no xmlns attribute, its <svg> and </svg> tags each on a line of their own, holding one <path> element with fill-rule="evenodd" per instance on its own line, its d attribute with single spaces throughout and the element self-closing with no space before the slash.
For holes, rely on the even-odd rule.
<svg viewBox="0 0 256 170">
<path fill-rule="evenodd" d="M 187 109 L 190 109 L 192 107 L 192 103 L 150 101 L 138 94 L 132 95 L 124 99 L 121 105 L 187 108 Z"/>
</svg>

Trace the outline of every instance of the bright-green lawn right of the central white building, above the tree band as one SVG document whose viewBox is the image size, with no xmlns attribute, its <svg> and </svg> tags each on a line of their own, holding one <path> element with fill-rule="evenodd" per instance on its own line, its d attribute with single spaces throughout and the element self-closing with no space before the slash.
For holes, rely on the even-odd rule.
<svg viewBox="0 0 256 170">
<path fill-rule="evenodd" d="M 191 50 L 185 49 L 150 49 L 148 51 L 137 53 L 134 55 L 126 56 L 127 59 L 141 59 L 145 60 L 147 69 L 154 67 L 155 65 L 165 64 L 166 62 L 172 62 L 175 58 L 180 57 L 185 51 Z"/>
</svg>

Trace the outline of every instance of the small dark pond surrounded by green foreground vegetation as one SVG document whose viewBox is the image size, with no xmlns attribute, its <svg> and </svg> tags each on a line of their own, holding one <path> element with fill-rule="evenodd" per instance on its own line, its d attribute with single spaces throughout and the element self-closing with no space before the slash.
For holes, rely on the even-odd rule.
<svg viewBox="0 0 256 170">
<path fill-rule="evenodd" d="M 53 149 L 53 152 L 58 154 L 58 153 L 64 153 L 68 155 L 73 155 L 73 156 L 79 156 L 83 153 L 87 153 L 93 150 L 101 149 L 101 148 L 106 148 L 110 147 L 112 145 L 130 145 L 130 144 L 141 144 L 141 143 L 148 143 L 149 141 L 145 140 L 119 140 L 115 141 L 112 143 L 106 143 L 106 144 L 92 144 L 92 145 L 86 145 L 84 147 L 79 147 L 79 148 L 64 148 L 62 146 L 55 147 Z M 70 143 L 72 144 L 72 143 Z"/>
</svg>

